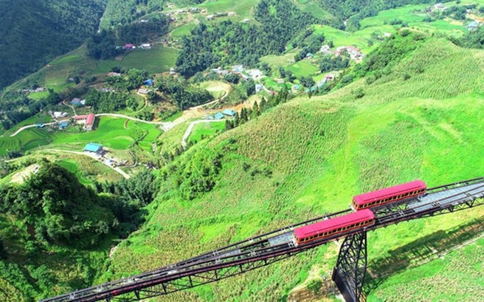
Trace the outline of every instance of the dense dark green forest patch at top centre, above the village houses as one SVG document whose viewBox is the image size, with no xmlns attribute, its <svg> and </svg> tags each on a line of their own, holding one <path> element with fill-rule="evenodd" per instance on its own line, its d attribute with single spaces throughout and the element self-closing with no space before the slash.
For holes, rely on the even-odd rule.
<svg viewBox="0 0 484 302">
<path fill-rule="evenodd" d="M 277 14 L 270 14 L 270 10 Z M 288 0 L 263 0 L 256 6 L 257 21 L 201 23 L 183 38 L 183 50 L 177 59 L 181 75 L 190 77 L 211 66 L 240 63 L 254 66 L 270 53 L 282 53 L 291 38 L 312 23 L 323 22 L 303 13 Z"/>
</svg>

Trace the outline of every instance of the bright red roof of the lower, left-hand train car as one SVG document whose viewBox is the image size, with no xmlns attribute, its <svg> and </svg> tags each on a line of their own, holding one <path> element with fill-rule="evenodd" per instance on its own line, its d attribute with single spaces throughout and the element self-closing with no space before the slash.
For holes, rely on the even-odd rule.
<svg viewBox="0 0 484 302">
<path fill-rule="evenodd" d="M 339 227 L 352 225 L 353 223 L 364 222 L 372 219 L 374 219 L 374 214 L 371 210 L 360 210 L 358 212 L 352 212 L 347 215 L 316 222 L 312 225 L 306 225 L 305 227 L 298 227 L 294 230 L 294 234 L 297 238 L 305 238 L 314 236 L 315 234 L 321 234 L 322 232 L 335 230 Z"/>
</svg>

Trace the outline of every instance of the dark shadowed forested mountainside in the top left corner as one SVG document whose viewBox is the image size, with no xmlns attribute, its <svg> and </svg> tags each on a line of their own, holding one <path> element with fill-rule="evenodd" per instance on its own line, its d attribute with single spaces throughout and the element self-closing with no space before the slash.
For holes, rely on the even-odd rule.
<svg viewBox="0 0 484 302">
<path fill-rule="evenodd" d="M 0 90 L 98 29 L 105 0 L 0 1 Z"/>
</svg>

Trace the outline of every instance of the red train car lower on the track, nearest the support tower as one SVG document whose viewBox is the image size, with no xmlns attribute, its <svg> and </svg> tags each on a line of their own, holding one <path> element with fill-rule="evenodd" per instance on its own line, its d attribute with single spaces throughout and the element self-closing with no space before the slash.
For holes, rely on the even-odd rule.
<svg viewBox="0 0 484 302">
<path fill-rule="evenodd" d="M 337 233 L 359 229 L 374 224 L 374 214 L 371 210 L 352 212 L 347 215 L 331 218 L 321 222 L 298 227 L 294 230 L 296 244 L 306 244 L 316 239 L 330 237 Z"/>
</svg>

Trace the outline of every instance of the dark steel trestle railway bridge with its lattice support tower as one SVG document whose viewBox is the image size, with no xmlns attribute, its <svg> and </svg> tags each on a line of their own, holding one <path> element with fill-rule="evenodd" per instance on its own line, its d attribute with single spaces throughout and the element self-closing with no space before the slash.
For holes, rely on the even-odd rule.
<svg viewBox="0 0 484 302">
<path fill-rule="evenodd" d="M 484 178 L 428 188 L 425 195 L 417 198 L 372 208 L 375 215 L 374 225 L 295 245 L 295 227 L 351 212 L 343 210 L 261 234 L 177 264 L 44 299 L 41 302 L 140 301 L 243 274 L 342 238 L 345 239 L 332 279 L 346 301 L 359 301 L 367 269 L 367 232 L 399 222 L 456 212 L 483 204 Z"/>
</svg>

